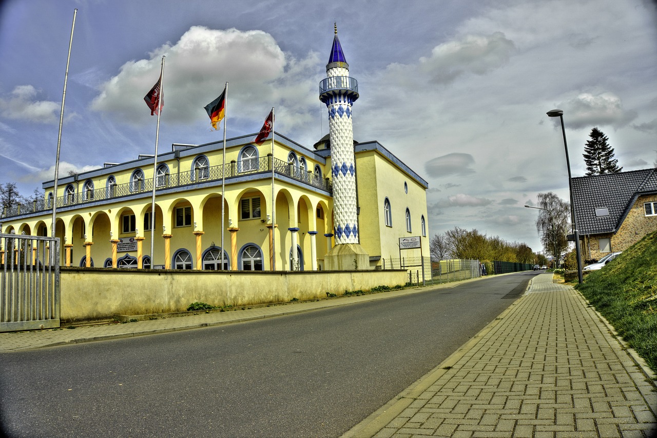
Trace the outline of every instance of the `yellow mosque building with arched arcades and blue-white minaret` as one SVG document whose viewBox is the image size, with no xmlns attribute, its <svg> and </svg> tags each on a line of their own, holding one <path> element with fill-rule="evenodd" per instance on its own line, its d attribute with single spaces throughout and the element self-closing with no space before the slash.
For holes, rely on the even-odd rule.
<svg viewBox="0 0 657 438">
<path fill-rule="evenodd" d="M 358 98 L 336 30 L 319 84 L 329 133 L 311 148 L 275 131 L 173 144 L 155 169 L 140 156 L 43 183 L 42 200 L 0 212 L 0 232 L 53 235 L 57 202 L 64 266 L 350 271 L 428 257 L 428 184 L 378 141 L 354 141 Z"/>
</svg>

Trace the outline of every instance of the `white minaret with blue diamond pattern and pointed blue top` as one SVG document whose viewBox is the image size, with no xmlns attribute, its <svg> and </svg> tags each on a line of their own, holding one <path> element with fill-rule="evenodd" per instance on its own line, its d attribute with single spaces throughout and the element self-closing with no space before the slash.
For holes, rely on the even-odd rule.
<svg viewBox="0 0 657 438">
<path fill-rule="evenodd" d="M 327 64 L 327 78 L 319 83 L 319 100 L 328 108 L 333 177 L 334 248 L 325 257 L 325 269 L 351 271 L 369 269 L 369 255 L 359 244 L 356 197 L 356 167 L 353 153 L 351 105 L 358 99 L 358 81 L 349 76 L 338 28 Z"/>
</svg>

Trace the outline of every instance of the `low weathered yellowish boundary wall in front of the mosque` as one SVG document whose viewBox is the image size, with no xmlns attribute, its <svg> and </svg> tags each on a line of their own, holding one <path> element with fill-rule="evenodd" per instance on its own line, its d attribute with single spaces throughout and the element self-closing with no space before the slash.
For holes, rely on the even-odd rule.
<svg viewBox="0 0 657 438">
<path fill-rule="evenodd" d="M 187 311 L 195 301 L 233 307 L 326 298 L 330 294 L 407 282 L 405 270 L 177 271 L 60 269 L 62 320 Z"/>
</svg>

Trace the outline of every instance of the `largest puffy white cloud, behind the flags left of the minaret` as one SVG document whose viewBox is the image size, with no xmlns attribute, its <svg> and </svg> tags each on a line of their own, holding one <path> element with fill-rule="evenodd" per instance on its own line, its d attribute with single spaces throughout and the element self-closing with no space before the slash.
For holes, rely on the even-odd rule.
<svg viewBox="0 0 657 438">
<path fill-rule="evenodd" d="M 308 102 L 315 104 L 317 99 L 315 87 L 319 80 L 315 76 L 321 74 L 321 63 L 316 55 L 311 53 L 302 59 L 285 55 L 273 37 L 260 30 L 192 26 L 177 43 L 162 45 L 150 53 L 150 58 L 126 62 L 116 76 L 102 83 L 91 108 L 122 121 L 145 122 L 150 112 L 143 97 L 160 76 L 163 55 L 162 117 L 168 122 L 207 119 L 203 107 L 221 93 L 226 81 L 231 114 L 264 118 L 273 106 L 270 103 L 294 101 L 294 106 L 277 112 L 277 120 L 288 123 L 288 127 L 307 123 L 306 118 L 294 117 L 296 108 L 305 108 Z M 95 75 L 91 72 L 89 76 Z M 285 117 L 286 113 L 291 116 Z"/>
</svg>

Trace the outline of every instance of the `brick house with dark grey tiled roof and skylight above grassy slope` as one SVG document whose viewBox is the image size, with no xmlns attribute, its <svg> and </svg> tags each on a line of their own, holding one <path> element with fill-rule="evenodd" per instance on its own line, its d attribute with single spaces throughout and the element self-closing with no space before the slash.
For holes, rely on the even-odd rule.
<svg viewBox="0 0 657 438">
<path fill-rule="evenodd" d="M 657 169 L 572 179 L 581 257 L 598 260 L 657 230 Z"/>
</svg>

